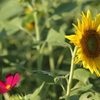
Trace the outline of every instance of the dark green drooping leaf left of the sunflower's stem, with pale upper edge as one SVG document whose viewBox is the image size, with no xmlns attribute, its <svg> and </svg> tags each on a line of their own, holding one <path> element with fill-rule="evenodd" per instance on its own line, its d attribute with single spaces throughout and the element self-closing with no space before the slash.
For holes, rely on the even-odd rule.
<svg viewBox="0 0 100 100">
<path fill-rule="evenodd" d="M 43 71 L 43 70 L 34 70 L 34 71 L 29 71 L 30 73 L 33 73 L 37 78 L 39 78 L 42 81 L 45 81 L 46 83 L 49 84 L 54 84 L 54 78 L 50 72 Z"/>
</svg>

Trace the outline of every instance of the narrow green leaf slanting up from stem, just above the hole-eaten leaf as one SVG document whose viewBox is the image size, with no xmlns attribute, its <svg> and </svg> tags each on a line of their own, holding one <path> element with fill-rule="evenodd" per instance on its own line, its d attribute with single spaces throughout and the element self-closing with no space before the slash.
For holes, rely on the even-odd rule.
<svg viewBox="0 0 100 100">
<path fill-rule="evenodd" d="M 74 90 L 71 91 L 70 96 L 72 96 L 72 95 L 79 95 L 79 94 L 81 94 L 81 93 L 83 93 L 83 92 L 88 91 L 88 90 L 91 89 L 92 87 L 93 87 L 93 85 L 92 85 L 92 84 L 89 84 L 89 85 L 86 85 L 86 86 L 84 86 L 84 87 L 80 87 L 80 88 L 74 89 Z M 85 100 L 85 99 L 84 99 L 84 100 Z"/>
</svg>

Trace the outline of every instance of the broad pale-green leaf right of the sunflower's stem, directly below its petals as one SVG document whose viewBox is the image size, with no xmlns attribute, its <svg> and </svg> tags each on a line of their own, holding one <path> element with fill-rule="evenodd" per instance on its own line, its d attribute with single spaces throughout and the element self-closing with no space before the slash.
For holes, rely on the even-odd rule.
<svg viewBox="0 0 100 100">
<path fill-rule="evenodd" d="M 73 78 L 82 81 L 83 83 L 86 84 L 88 81 L 88 78 L 91 76 L 91 73 L 85 69 L 76 69 L 74 71 Z"/>
</svg>

